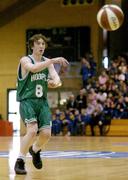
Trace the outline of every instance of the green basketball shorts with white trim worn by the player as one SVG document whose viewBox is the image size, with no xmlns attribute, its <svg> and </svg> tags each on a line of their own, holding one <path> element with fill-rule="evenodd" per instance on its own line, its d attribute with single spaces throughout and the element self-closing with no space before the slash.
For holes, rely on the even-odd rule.
<svg viewBox="0 0 128 180">
<path fill-rule="evenodd" d="M 37 122 L 38 128 L 50 128 L 51 112 L 47 99 L 25 99 L 20 102 L 20 115 L 25 124 Z"/>
</svg>

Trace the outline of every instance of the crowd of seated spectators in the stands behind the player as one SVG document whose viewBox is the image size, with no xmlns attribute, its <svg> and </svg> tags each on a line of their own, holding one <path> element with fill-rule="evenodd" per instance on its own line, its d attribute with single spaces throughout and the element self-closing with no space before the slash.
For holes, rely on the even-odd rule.
<svg viewBox="0 0 128 180">
<path fill-rule="evenodd" d="M 128 119 L 128 58 L 113 58 L 107 69 L 97 73 L 92 54 L 81 58 L 82 88 L 71 94 L 64 110 L 52 115 L 52 134 L 86 135 L 90 126 L 92 136 L 98 125 L 100 135 L 111 120 Z"/>
</svg>

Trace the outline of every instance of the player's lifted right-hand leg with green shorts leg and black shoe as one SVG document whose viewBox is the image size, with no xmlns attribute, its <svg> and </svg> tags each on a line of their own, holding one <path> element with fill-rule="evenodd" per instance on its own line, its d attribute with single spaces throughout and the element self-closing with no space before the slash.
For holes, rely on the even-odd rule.
<svg viewBox="0 0 128 180">
<path fill-rule="evenodd" d="M 40 113 L 38 116 L 39 135 L 33 145 L 29 148 L 29 152 L 32 155 L 33 165 L 37 169 L 42 168 L 42 160 L 40 157 L 40 151 L 43 146 L 48 142 L 51 136 L 51 113 L 47 100 L 41 101 Z"/>
</svg>

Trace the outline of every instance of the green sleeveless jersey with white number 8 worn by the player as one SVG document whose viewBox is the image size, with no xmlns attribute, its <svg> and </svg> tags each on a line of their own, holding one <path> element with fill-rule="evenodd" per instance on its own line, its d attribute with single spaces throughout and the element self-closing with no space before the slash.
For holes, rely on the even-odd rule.
<svg viewBox="0 0 128 180">
<path fill-rule="evenodd" d="M 34 64 L 35 62 L 32 57 L 30 55 L 28 57 Z M 44 61 L 44 58 L 42 58 L 42 61 Z M 28 72 L 25 77 L 22 77 L 21 64 L 19 64 L 17 77 L 17 101 L 33 98 L 47 98 L 47 80 L 48 68 L 36 73 Z"/>
</svg>

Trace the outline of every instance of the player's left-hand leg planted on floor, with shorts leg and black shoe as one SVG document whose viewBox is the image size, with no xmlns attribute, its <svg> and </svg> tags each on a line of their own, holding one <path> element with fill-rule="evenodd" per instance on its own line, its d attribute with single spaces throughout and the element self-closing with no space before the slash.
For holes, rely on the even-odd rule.
<svg viewBox="0 0 128 180">
<path fill-rule="evenodd" d="M 25 157 L 30 144 L 37 135 L 38 125 L 35 117 L 34 105 L 31 100 L 22 101 L 20 103 L 20 115 L 26 124 L 26 135 L 21 140 L 20 153 L 15 163 L 16 174 L 26 174 Z"/>
</svg>

